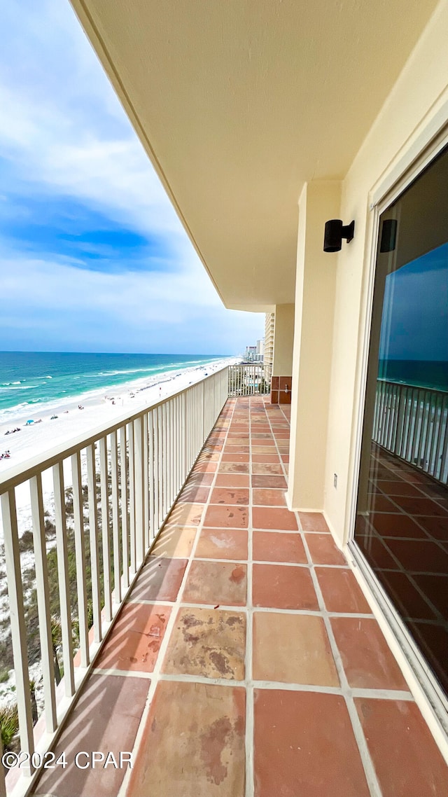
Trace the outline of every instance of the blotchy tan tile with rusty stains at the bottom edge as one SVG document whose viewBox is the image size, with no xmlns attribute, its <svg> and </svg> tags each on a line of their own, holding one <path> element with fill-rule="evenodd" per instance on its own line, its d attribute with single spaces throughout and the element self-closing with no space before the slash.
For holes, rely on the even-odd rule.
<svg viewBox="0 0 448 797">
<path fill-rule="evenodd" d="M 244 794 L 246 693 L 242 687 L 161 681 L 155 691 L 132 797 Z"/>
</svg>

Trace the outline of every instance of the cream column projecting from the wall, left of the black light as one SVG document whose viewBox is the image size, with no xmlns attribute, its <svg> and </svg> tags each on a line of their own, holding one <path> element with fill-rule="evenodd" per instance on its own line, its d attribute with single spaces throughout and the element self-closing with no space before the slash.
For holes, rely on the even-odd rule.
<svg viewBox="0 0 448 797">
<path fill-rule="evenodd" d="M 337 255 L 324 253 L 324 226 L 340 218 L 340 182 L 305 185 L 299 201 L 289 508 L 324 508 L 328 402 Z"/>
</svg>

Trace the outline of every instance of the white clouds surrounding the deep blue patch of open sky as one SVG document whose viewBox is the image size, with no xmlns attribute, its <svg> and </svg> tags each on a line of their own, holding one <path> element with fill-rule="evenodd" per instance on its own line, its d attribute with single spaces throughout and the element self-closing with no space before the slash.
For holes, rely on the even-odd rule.
<svg viewBox="0 0 448 797">
<path fill-rule="evenodd" d="M 151 351 L 139 335 L 169 349 L 171 329 L 179 346 L 206 329 L 203 351 L 227 351 L 226 336 L 241 349 L 260 336 L 261 316 L 222 307 L 69 3 L 12 0 L 2 9 L 0 45 L 2 204 L 9 193 L 24 202 L 77 198 L 118 226 L 162 236 L 176 256 L 169 273 L 101 273 L 8 251 L 4 241 L 3 340 L 33 328 L 36 340 L 39 331 L 59 334 L 72 349 L 77 340 L 93 350 L 106 340 L 112 351 L 127 340 L 116 350 Z"/>
</svg>

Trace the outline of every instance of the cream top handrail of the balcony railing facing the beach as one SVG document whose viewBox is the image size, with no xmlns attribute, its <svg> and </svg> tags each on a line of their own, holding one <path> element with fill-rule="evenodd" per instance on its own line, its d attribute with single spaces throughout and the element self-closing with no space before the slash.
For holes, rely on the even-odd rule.
<svg viewBox="0 0 448 797">
<path fill-rule="evenodd" d="M 214 376 L 222 373 L 222 371 L 226 371 L 228 367 L 228 365 L 225 365 L 222 368 L 218 368 L 218 371 L 214 371 L 213 374 L 204 376 L 203 379 L 198 379 L 198 382 L 188 385 L 187 387 L 183 387 L 182 390 L 176 391 L 165 398 L 161 398 L 159 401 L 153 402 L 152 404 L 146 404 L 145 406 L 140 407 L 140 410 L 136 410 L 136 412 L 127 412 L 121 414 L 118 416 L 118 418 L 114 418 L 112 423 L 108 422 L 101 424 L 100 426 L 96 426 L 95 429 L 87 430 L 83 434 L 77 435 L 76 438 L 71 438 L 60 443 L 58 446 L 53 446 L 49 449 L 46 449 L 41 453 L 38 453 L 35 457 L 30 457 L 25 462 L 19 462 L 18 465 L 13 465 L 13 467 L 8 468 L 5 473 L 0 475 L 0 495 L 2 495 L 2 493 L 6 493 L 13 487 L 21 485 L 22 482 L 28 481 L 31 477 L 35 476 L 36 473 L 41 473 L 42 471 L 51 468 L 53 465 L 56 465 L 57 462 L 61 461 L 61 459 L 67 459 L 68 457 L 71 457 L 73 453 L 77 453 L 77 451 L 91 446 L 92 443 L 96 442 L 100 438 L 104 438 L 106 435 L 111 434 L 112 432 L 115 432 L 116 430 L 120 429 L 121 426 L 125 426 L 127 423 L 132 423 L 137 418 L 140 418 L 144 413 L 155 410 L 158 406 L 162 406 L 166 402 L 171 401 L 171 398 L 183 395 L 183 393 L 191 391 L 196 385 L 207 382 L 209 379 L 213 379 Z"/>
</svg>

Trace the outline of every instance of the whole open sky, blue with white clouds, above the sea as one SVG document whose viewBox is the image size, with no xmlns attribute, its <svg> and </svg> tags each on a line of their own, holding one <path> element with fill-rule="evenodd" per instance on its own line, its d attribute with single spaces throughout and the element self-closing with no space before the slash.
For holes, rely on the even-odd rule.
<svg viewBox="0 0 448 797">
<path fill-rule="evenodd" d="M 0 28 L 0 350 L 239 354 L 226 310 L 68 0 Z"/>
</svg>

